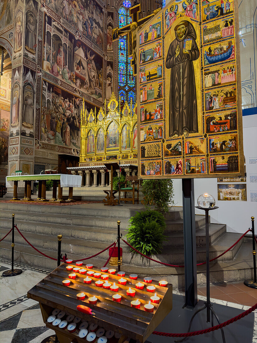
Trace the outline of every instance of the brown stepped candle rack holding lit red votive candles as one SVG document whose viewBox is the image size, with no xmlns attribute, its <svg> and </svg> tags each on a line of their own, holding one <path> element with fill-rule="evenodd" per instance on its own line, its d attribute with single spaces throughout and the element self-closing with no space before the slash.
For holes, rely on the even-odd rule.
<svg viewBox="0 0 257 343">
<path fill-rule="evenodd" d="M 76 264 L 71 264 L 76 267 Z M 87 268 L 83 264 L 81 268 L 93 271 L 94 273 L 108 274 L 108 283 L 119 285 L 119 289 L 115 294 L 121 295 L 121 301 L 116 302 L 112 300 L 114 292 L 103 287 L 96 287 L 95 282 L 99 278 L 90 276 L 92 282 L 90 284 L 84 283 L 85 275 L 76 273 L 76 279 L 69 279 L 70 286 L 63 286 L 62 281 L 66 280 L 69 271 L 66 270 L 66 264 L 61 264 L 58 268 L 52 271 L 30 291 L 28 291 L 28 298 L 39 301 L 42 317 L 46 326 L 56 331 L 56 334 L 63 342 L 70 342 L 75 338 L 74 333 L 68 330 L 62 330 L 58 326 L 55 327 L 47 322 L 47 318 L 51 315 L 52 309 L 59 309 L 71 315 L 82 318 L 82 321 L 96 323 L 99 328 L 105 330 L 112 330 L 121 334 L 120 340 L 117 342 L 124 342 L 125 339 L 138 340 L 145 342 L 152 331 L 159 325 L 159 323 L 168 315 L 172 309 L 172 285 L 167 284 L 165 287 L 160 286 L 158 281 L 152 280 L 151 286 L 156 287 L 155 293 L 160 297 L 159 304 L 154 305 L 153 312 L 146 312 L 144 305 L 148 304 L 152 293 L 147 292 L 146 287 L 149 283 L 144 282 L 144 279 L 137 277 L 137 280 L 130 279 L 130 274 L 122 276 L 126 280 L 126 285 L 119 284 L 120 275 L 110 274 L 108 272 L 101 272 L 100 268 Z M 101 280 L 101 279 L 100 279 Z M 144 288 L 137 289 L 136 283 L 144 284 Z M 127 295 L 127 290 L 131 288 L 136 292 L 135 296 Z M 85 293 L 85 299 L 77 299 L 78 293 Z M 96 296 L 97 303 L 95 305 L 89 304 L 88 298 Z M 165 300 L 163 298 L 165 297 Z M 139 300 L 140 308 L 131 307 L 131 301 Z M 77 309 L 77 305 L 88 306 L 93 314 L 86 314 Z M 70 341 L 69 341 L 70 340 Z M 78 343 L 85 342 L 76 336 Z"/>
</svg>

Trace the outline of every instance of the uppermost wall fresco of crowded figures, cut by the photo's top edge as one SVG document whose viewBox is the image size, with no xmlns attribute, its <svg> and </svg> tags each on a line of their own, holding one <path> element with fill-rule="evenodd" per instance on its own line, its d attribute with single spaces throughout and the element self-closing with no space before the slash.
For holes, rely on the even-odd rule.
<svg viewBox="0 0 257 343">
<path fill-rule="evenodd" d="M 48 6 L 102 49 L 103 9 L 94 0 L 51 0 Z M 65 24 L 64 24 L 65 26 Z"/>
</svg>

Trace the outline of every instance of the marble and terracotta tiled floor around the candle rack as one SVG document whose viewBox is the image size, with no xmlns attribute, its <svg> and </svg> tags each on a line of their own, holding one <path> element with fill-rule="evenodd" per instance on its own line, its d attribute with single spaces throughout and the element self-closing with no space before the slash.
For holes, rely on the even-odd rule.
<svg viewBox="0 0 257 343">
<path fill-rule="evenodd" d="M 42 320 L 39 304 L 37 301 L 27 298 L 27 291 L 42 280 L 50 271 L 42 270 L 21 263 L 15 263 L 15 268 L 20 268 L 23 273 L 13 277 L 3 277 L 2 272 L 11 268 L 9 260 L 0 258 L 0 343 L 44 343 L 47 337 L 54 334 L 54 331 L 49 330 L 44 325 Z M 221 288 L 222 287 L 222 288 Z M 211 301 L 215 304 L 234 307 L 242 311 L 252 306 L 249 298 L 240 296 L 235 300 L 235 296 L 231 296 L 241 285 L 233 286 L 215 286 L 211 288 Z M 222 296 L 216 288 L 221 288 Z M 247 289 L 243 289 L 247 292 Z M 248 291 L 254 293 L 252 291 Z M 174 289 L 174 294 L 184 295 L 181 289 Z M 257 293 L 257 291 L 256 291 Z M 251 296 L 253 296 L 251 294 Z M 227 296 L 227 297 L 226 297 Z M 255 297 L 254 297 L 255 298 Z M 204 287 L 198 292 L 199 300 L 206 300 Z M 232 301 L 233 300 L 233 301 Z M 252 298 L 250 300 L 253 300 Z M 254 301 L 254 300 L 253 300 Z M 257 301 L 257 300 L 256 300 Z M 253 343 L 257 343 L 257 310 L 255 311 Z M 173 341 L 173 340 L 172 340 Z M 171 339 L 167 338 L 167 343 Z M 197 337 L 195 338 L 197 343 Z M 209 341 L 208 341 L 209 342 Z M 216 342 L 216 341 L 215 341 Z M 230 343 L 230 342 L 227 342 Z"/>
</svg>

